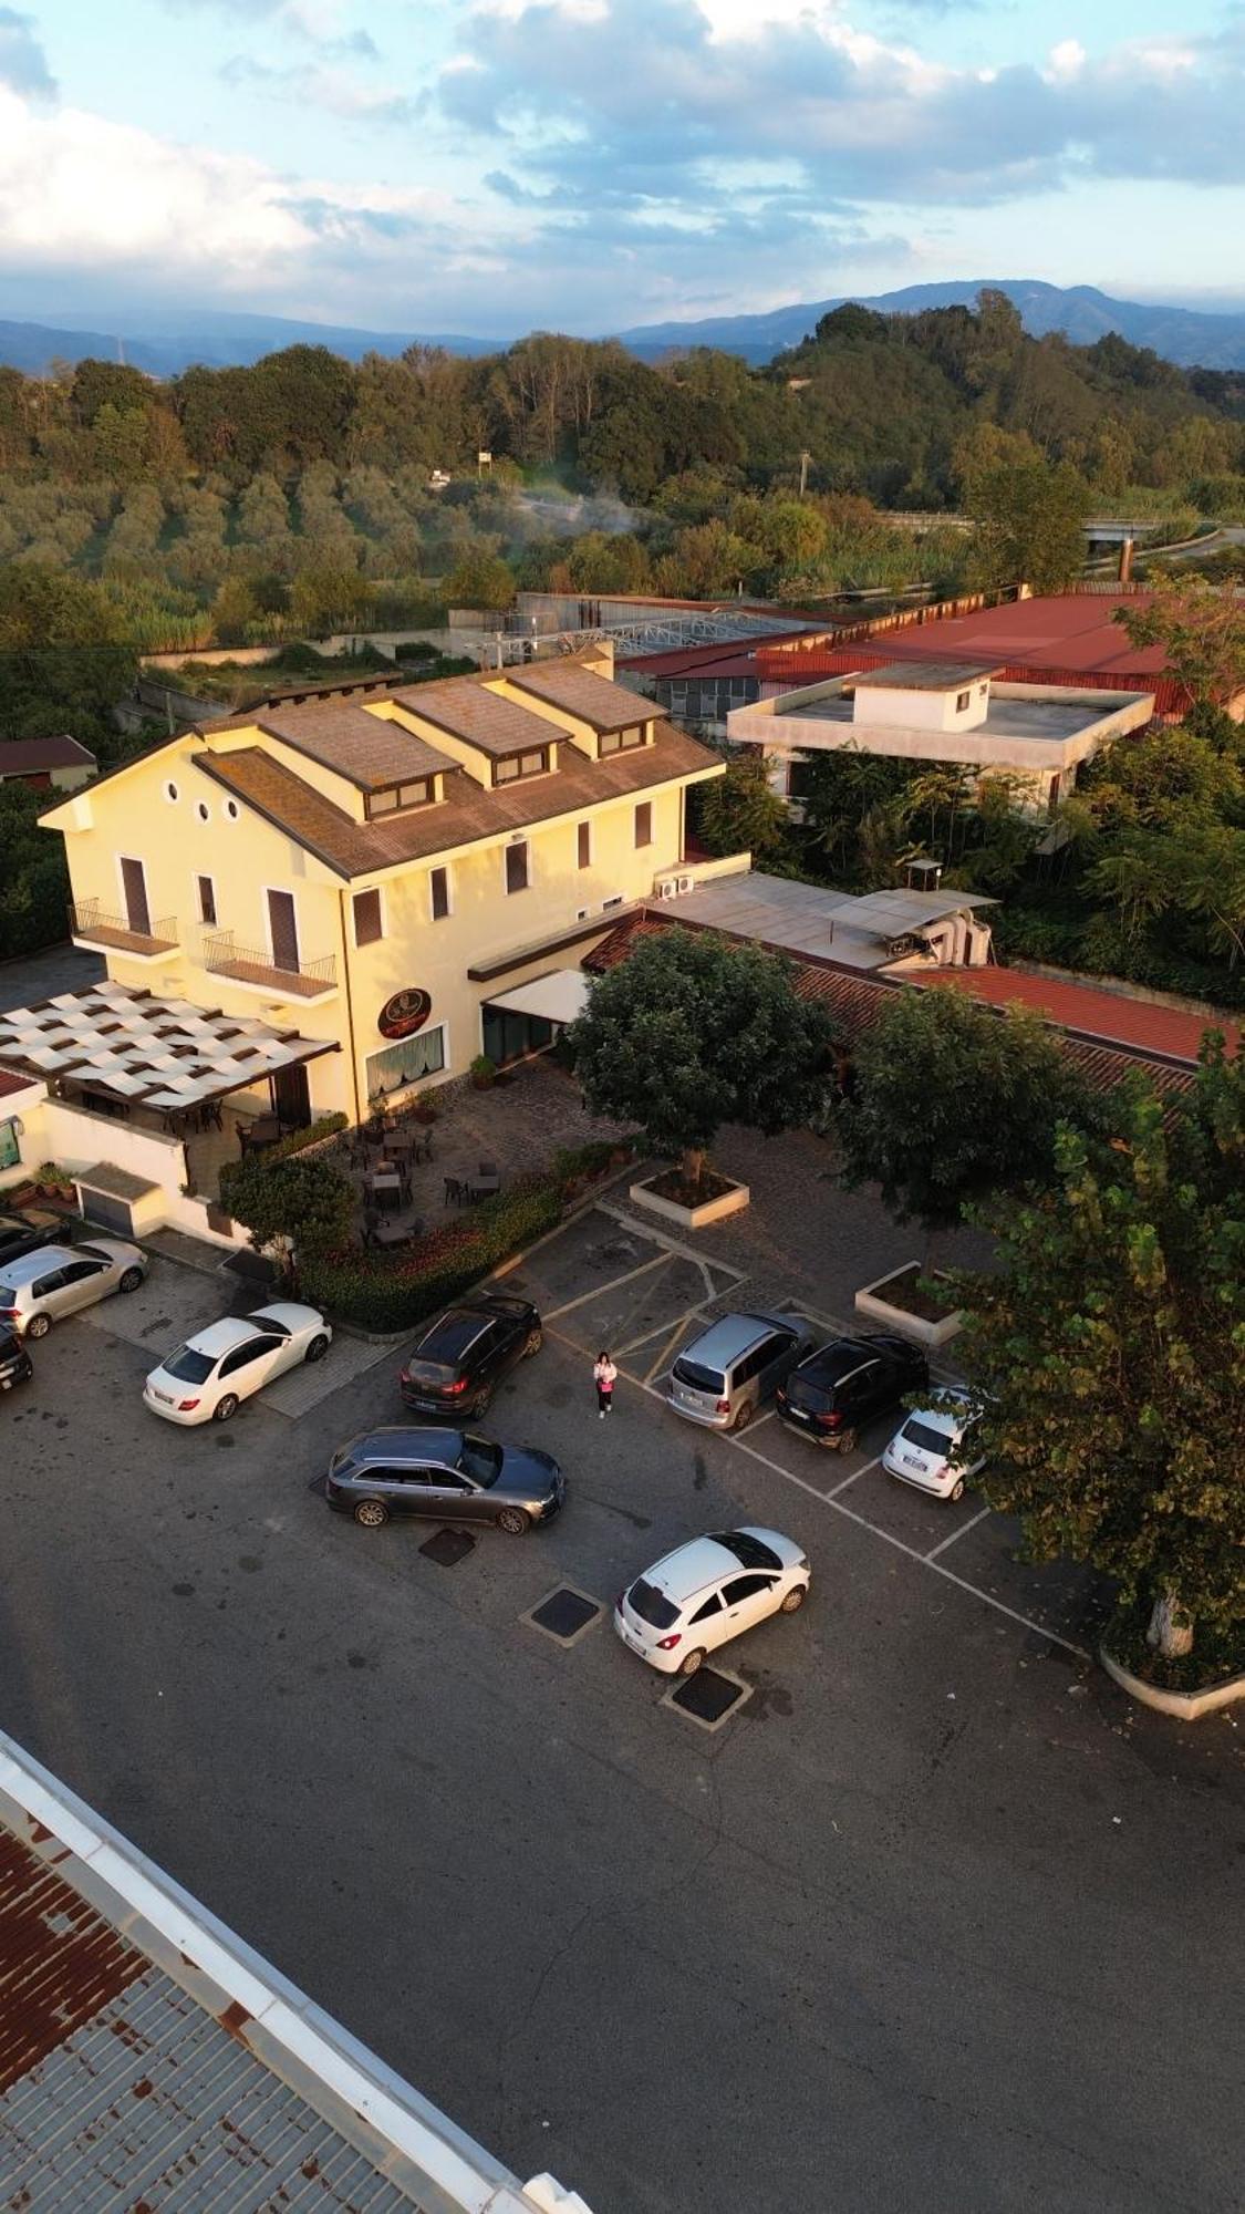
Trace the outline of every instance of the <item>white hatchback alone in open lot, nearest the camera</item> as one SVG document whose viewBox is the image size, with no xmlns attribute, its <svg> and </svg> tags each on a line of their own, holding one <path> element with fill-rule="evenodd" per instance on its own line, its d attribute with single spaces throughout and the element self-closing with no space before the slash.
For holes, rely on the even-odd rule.
<svg viewBox="0 0 1245 2214">
<path fill-rule="evenodd" d="M 809 1559 L 778 1530 L 716 1530 L 676 1545 L 618 1592 L 614 1627 L 665 1676 L 696 1676 L 718 1645 L 795 1614 L 809 1594 Z"/>
</svg>

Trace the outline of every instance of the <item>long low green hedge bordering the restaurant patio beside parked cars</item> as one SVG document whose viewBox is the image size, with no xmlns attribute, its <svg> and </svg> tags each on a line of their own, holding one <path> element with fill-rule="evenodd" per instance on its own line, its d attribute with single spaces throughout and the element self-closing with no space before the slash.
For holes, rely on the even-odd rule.
<svg viewBox="0 0 1245 2214">
<path fill-rule="evenodd" d="M 534 1238 L 556 1229 L 576 1184 L 600 1176 L 616 1149 L 603 1140 L 560 1151 L 549 1173 L 521 1178 L 470 1215 L 428 1231 L 403 1253 L 350 1246 L 308 1258 L 299 1266 L 299 1293 L 361 1331 L 403 1331 L 423 1322 Z"/>
</svg>

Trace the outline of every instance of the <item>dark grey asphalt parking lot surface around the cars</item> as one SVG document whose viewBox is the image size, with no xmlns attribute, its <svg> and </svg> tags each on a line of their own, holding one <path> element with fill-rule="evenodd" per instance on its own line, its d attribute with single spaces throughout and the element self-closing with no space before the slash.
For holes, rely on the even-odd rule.
<svg viewBox="0 0 1245 2214">
<path fill-rule="evenodd" d="M 317 1494 L 403 1419 L 401 1348 L 339 1337 L 182 1432 L 137 1393 L 210 1277 L 155 1262 L 62 1324 L 0 1410 L 4 1727 L 594 2214 L 1236 2207 L 1232 1718 L 1130 1707 L 1090 1581 L 884 1479 L 886 1421 L 846 1459 L 678 1421 L 685 1335 L 773 1297 L 738 1238 L 607 1198 L 505 1289 L 545 1348 L 485 1428 L 569 1497 L 472 1545 Z M 740 1521 L 798 1539 L 813 1594 L 716 1656 L 742 1696 L 707 1727 L 609 1610 Z"/>
</svg>

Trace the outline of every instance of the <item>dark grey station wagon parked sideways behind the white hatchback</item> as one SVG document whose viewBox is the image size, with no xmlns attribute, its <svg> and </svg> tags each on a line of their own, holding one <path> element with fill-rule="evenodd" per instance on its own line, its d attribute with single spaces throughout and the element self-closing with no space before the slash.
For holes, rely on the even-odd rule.
<svg viewBox="0 0 1245 2214">
<path fill-rule="evenodd" d="M 563 1470 L 536 1446 L 496 1446 L 476 1430 L 366 1430 L 339 1446 L 323 1497 L 363 1530 L 390 1514 L 496 1523 L 523 1537 L 554 1517 L 567 1494 Z"/>
</svg>

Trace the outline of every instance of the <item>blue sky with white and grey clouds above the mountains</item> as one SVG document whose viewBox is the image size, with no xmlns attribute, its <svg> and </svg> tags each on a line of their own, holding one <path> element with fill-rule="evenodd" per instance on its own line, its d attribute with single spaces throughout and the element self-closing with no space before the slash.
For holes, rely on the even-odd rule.
<svg viewBox="0 0 1245 2214">
<path fill-rule="evenodd" d="M 0 0 L 0 314 L 1245 306 L 1245 0 Z"/>
</svg>

